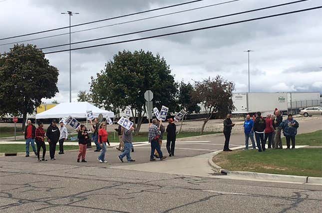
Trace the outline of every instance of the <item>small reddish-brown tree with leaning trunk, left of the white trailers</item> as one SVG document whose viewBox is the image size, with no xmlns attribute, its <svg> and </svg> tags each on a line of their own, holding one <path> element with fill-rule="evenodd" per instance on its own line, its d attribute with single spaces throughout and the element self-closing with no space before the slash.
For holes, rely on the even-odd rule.
<svg viewBox="0 0 322 213">
<path fill-rule="evenodd" d="M 194 98 L 203 104 L 207 113 L 207 118 L 204 120 L 201 128 L 202 134 L 206 123 L 214 113 L 224 118 L 227 113 L 235 108 L 232 100 L 235 84 L 217 75 L 213 79 L 209 77 L 203 81 L 197 81 L 195 87 Z"/>
</svg>

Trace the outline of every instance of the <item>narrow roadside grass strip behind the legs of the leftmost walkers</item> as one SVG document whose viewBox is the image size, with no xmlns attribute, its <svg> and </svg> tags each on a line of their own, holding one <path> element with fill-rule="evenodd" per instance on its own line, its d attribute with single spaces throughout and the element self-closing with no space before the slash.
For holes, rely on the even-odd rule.
<svg viewBox="0 0 322 213">
<path fill-rule="evenodd" d="M 37 145 L 35 144 L 37 148 Z M 78 149 L 78 145 L 64 145 L 64 150 Z M 32 154 L 32 147 L 29 146 L 30 154 Z M 46 151 L 49 151 L 49 146 L 46 144 Z M 59 151 L 59 145 L 56 146 L 56 151 Z M 25 152 L 25 144 L 0 144 L 0 152 L 15 153 Z M 40 151 L 42 153 L 42 149 Z"/>
</svg>

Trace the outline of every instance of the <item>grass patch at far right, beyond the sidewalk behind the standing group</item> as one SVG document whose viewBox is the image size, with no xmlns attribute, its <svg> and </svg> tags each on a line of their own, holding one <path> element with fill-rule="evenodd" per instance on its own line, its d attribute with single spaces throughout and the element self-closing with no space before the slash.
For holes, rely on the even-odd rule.
<svg viewBox="0 0 322 213">
<path fill-rule="evenodd" d="M 282 141 L 286 144 L 285 137 Z M 296 135 L 295 145 L 322 145 L 322 130 Z"/>
</svg>

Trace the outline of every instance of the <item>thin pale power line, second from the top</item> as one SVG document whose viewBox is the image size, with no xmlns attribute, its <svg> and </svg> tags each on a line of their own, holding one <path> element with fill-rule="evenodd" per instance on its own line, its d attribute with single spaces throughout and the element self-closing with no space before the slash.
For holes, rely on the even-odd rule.
<svg viewBox="0 0 322 213">
<path fill-rule="evenodd" d="M 150 16 L 150 17 L 135 19 L 135 20 L 123 21 L 123 22 L 119 22 L 119 23 L 113 23 L 113 24 L 108 24 L 108 25 L 103 25 L 103 26 L 97 26 L 97 27 L 92 27 L 92 28 L 87 28 L 87 29 L 76 30 L 76 31 L 72 31 L 70 33 L 83 32 L 83 31 L 99 29 L 99 28 L 104 28 L 104 27 L 109 27 L 109 26 L 121 25 L 121 24 L 124 24 L 124 23 L 132 23 L 132 22 L 136 22 L 136 21 L 147 20 L 147 19 L 151 19 L 151 18 L 162 17 L 162 16 L 166 16 L 166 15 L 172 15 L 172 14 L 177 14 L 177 13 L 181 13 L 181 12 L 187 12 L 187 11 L 207 8 L 207 7 L 216 6 L 216 5 L 220 5 L 220 4 L 231 3 L 231 2 L 234 2 L 234 1 L 240 1 L 240 0 L 224 1 L 224 2 L 220 2 L 220 3 L 215 3 L 215 4 L 206 5 L 206 6 L 200 6 L 200 7 L 195 7 L 195 8 L 191 8 L 191 9 L 179 10 L 179 11 L 176 11 L 176 12 L 170 12 L 170 13 L 165 13 L 165 14 L 161 14 L 161 15 L 154 15 L 154 16 Z M 19 40 L 19 41 L 8 42 L 8 43 L 1 43 L 0 46 L 8 45 L 8 44 L 21 43 L 21 42 L 31 41 L 31 40 L 39 40 L 39 39 L 43 39 L 43 38 L 56 37 L 56 36 L 66 35 L 66 34 L 69 34 L 69 32 L 59 33 L 59 34 L 54 34 L 54 35 L 48 35 L 48 36 L 42 36 L 42 37 L 37 37 L 37 38 L 30 38 L 30 39 Z"/>
</svg>

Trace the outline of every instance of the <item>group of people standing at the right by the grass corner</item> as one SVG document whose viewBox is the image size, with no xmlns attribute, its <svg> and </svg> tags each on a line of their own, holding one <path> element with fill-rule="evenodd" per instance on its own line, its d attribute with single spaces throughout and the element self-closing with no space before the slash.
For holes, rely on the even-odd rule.
<svg viewBox="0 0 322 213">
<path fill-rule="evenodd" d="M 234 125 L 235 123 L 231 120 L 231 114 L 227 114 L 227 117 L 224 120 L 224 151 L 232 151 L 229 149 L 229 140 Z M 266 118 L 262 116 L 260 111 L 258 111 L 253 118 L 251 118 L 250 114 L 247 114 L 244 122 L 245 149 L 248 150 L 249 148 L 249 139 L 252 142 L 252 148 L 256 149 L 257 146 L 258 151 L 260 152 L 266 150 L 267 141 L 268 148 L 283 148 L 281 139 L 282 131 L 286 137 L 287 149 L 291 148 L 291 141 L 292 148 L 295 148 L 295 136 L 298 127 L 299 123 L 293 118 L 292 114 L 289 114 L 288 118 L 283 120 L 283 115 L 277 108 L 274 110 L 274 115 L 268 114 Z"/>
</svg>

